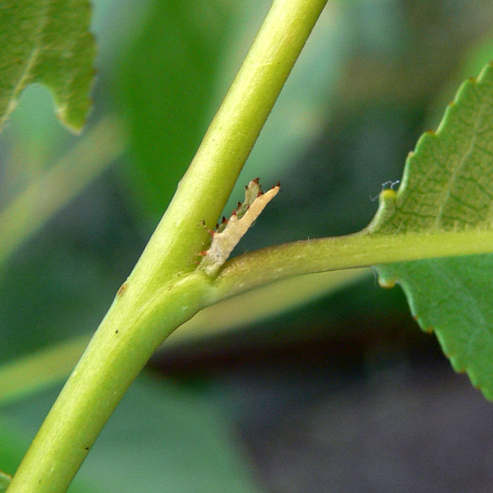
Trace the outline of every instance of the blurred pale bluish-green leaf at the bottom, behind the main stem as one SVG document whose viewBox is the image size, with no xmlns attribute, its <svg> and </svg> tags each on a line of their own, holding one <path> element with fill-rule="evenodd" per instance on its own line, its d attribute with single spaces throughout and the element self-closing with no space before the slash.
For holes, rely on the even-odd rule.
<svg viewBox="0 0 493 493">
<path fill-rule="evenodd" d="M 0 417 L 9 422 L 3 425 L 17 429 L 22 443 L 29 443 L 56 393 L 4 407 Z M 7 466 L 13 472 L 15 464 L 2 467 Z M 200 392 L 148 373 L 123 398 L 75 483 L 69 492 L 260 491 L 220 411 Z"/>
</svg>

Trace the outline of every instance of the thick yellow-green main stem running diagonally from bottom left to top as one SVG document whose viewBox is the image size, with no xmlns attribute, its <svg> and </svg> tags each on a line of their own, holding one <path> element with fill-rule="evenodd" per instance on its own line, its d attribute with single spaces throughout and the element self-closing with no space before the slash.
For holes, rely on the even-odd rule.
<svg viewBox="0 0 493 493">
<path fill-rule="evenodd" d="M 154 349 L 207 303 L 195 271 L 326 0 L 275 0 L 175 197 L 19 466 L 8 493 L 63 493 Z"/>
</svg>

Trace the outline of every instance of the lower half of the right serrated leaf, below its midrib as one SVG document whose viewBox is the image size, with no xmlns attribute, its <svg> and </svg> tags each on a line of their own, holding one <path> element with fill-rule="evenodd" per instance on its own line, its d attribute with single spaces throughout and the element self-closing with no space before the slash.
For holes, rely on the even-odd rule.
<svg viewBox="0 0 493 493">
<path fill-rule="evenodd" d="M 493 400 L 493 255 L 379 266 L 379 281 L 402 286 L 425 332 L 436 333 L 457 372 Z"/>
</svg>

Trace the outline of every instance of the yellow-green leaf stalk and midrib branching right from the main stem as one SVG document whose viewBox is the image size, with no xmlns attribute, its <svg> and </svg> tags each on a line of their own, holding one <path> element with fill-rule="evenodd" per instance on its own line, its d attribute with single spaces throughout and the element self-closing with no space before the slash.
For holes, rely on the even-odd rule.
<svg viewBox="0 0 493 493">
<path fill-rule="evenodd" d="M 211 286 L 208 302 L 304 274 L 492 252 L 491 230 L 396 235 L 363 230 L 353 235 L 269 246 L 227 261 Z"/>
</svg>

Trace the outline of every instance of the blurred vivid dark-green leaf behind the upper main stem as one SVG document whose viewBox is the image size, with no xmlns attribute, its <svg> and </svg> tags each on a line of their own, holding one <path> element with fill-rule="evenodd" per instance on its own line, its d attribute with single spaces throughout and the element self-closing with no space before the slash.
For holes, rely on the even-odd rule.
<svg viewBox="0 0 493 493">
<path fill-rule="evenodd" d="M 234 33 L 230 3 L 151 2 L 145 26 L 115 71 L 133 157 L 124 180 L 151 218 L 166 209 L 217 109 L 221 60 Z"/>
</svg>

